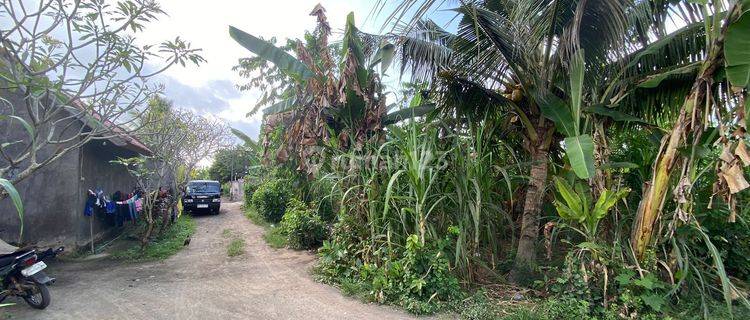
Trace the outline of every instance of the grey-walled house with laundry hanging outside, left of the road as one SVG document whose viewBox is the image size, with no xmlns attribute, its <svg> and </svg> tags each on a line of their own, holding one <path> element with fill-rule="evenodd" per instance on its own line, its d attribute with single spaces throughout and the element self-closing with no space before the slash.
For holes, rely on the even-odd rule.
<svg viewBox="0 0 750 320">
<path fill-rule="evenodd" d="M 3 98 L 12 105 L 23 105 L 15 94 L 3 92 Z M 28 117 L 23 110 L 15 108 L 14 113 Z M 72 121 L 79 128 L 87 125 L 85 119 Z M 115 124 L 107 122 L 104 125 L 115 134 L 124 132 Z M 0 134 L 3 135 L 0 136 L 0 143 L 25 138 L 21 128 L 2 126 L 0 124 Z M 49 146 L 41 151 L 52 152 L 51 149 L 55 147 Z M 83 214 L 87 190 L 100 188 L 108 195 L 118 190 L 132 191 L 135 187 L 133 177 L 125 167 L 110 161 L 150 154 L 151 150 L 143 143 L 121 134 L 116 138 L 89 141 L 22 180 L 16 188 L 25 208 L 23 242 L 78 246 L 88 243 L 90 221 Z M 0 165 L 3 161 L 0 159 Z M 95 215 L 93 220 L 95 237 L 112 230 L 111 217 Z M 0 238 L 7 242 L 18 241 L 19 227 L 20 221 L 11 202 L 8 199 L 0 200 Z"/>
</svg>

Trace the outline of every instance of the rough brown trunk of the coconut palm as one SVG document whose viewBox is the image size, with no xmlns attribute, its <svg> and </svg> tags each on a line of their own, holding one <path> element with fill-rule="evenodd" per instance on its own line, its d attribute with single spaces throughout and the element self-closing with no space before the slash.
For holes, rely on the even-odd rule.
<svg viewBox="0 0 750 320">
<path fill-rule="evenodd" d="M 539 238 L 539 220 L 547 184 L 547 160 L 549 155 L 550 133 L 541 134 L 537 145 L 531 150 L 530 180 L 526 189 L 526 199 L 523 205 L 521 222 L 521 236 L 518 240 L 518 250 L 513 270 L 509 275 L 512 282 L 523 280 L 536 263 L 536 243 Z"/>
</svg>

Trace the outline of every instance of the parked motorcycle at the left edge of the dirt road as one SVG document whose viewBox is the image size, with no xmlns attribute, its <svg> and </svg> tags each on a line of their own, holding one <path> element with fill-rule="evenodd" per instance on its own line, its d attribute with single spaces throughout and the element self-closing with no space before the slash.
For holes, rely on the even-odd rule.
<svg viewBox="0 0 750 320">
<path fill-rule="evenodd" d="M 47 285 L 54 283 L 55 278 L 42 271 L 47 268 L 44 260 L 56 257 L 63 250 L 64 247 L 50 248 L 37 253 L 34 249 L 21 249 L 0 255 L 0 302 L 7 297 L 20 297 L 35 309 L 49 306 L 51 298 Z"/>
</svg>

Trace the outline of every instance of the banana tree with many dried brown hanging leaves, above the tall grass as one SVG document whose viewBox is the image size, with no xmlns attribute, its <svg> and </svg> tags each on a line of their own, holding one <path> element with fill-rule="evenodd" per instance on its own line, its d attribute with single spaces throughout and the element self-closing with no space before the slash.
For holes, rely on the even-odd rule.
<svg viewBox="0 0 750 320">
<path fill-rule="evenodd" d="M 318 5 L 310 15 L 317 18 L 318 25 L 306 37 L 306 44 L 294 43 L 296 57 L 237 28 L 230 26 L 229 34 L 291 79 L 293 86 L 286 98 L 264 109 L 266 126 L 267 130 L 286 128 L 277 160 L 286 161 L 291 152 L 296 155 L 299 170 L 314 173 L 314 158 L 322 143 L 360 148 L 368 140 L 382 139 L 384 121 L 403 119 L 407 113 L 387 115 L 381 76 L 391 65 L 394 46 L 387 41 L 373 45 L 363 39 L 353 13 L 347 16 L 341 46 L 331 46 L 325 10 Z M 334 56 L 340 59 L 335 61 Z M 418 108 L 410 113 L 419 116 L 429 111 Z"/>
</svg>

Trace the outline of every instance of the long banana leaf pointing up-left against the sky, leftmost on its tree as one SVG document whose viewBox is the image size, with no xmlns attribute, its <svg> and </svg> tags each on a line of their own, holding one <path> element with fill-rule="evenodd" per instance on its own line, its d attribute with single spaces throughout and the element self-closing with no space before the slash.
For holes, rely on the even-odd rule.
<svg viewBox="0 0 750 320">
<path fill-rule="evenodd" d="M 245 49 L 272 62 L 290 77 L 306 80 L 315 75 L 304 63 L 268 41 L 252 36 L 233 26 L 229 26 L 229 35 Z"/>
</svg>

